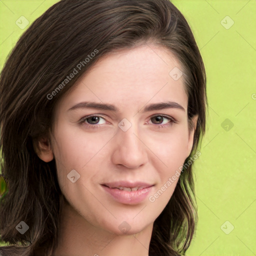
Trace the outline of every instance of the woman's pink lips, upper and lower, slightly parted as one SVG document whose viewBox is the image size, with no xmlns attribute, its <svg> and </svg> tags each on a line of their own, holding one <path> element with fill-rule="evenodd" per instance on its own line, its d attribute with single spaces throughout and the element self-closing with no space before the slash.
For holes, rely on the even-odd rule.
<svg viewBox="0 0 256 256">
<path fill-rule="evenodd" d="M 112 196 L 114 200 L 124 204 L 137 204 L 146 198 L 154 185 L 144 182 L 118 181 L 101 184 L 101 186 L 106 192 L 108 192 Z M 116 188 L 117 186 L 142 188 L 134 191 L 126 191 Z"/>
</svg>

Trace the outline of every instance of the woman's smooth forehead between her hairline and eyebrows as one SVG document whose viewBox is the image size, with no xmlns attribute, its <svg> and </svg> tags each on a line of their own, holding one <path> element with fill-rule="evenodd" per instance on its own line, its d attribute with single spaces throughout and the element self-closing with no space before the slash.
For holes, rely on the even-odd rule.
<svg viewBox="0 0 256 256">
<path fill-rule="evenodd" d="M 67 108 L 81 101 L 102 101 L 131 109 L 149 101 L 170 100 L 186 109 L 183 77 L 173 79 L 172 70 L 181 72 L 178 60 L 162 47 L 141 45 L 118 50 L 100 58 L 65 95 L 63 105 Z"/>
</svg>

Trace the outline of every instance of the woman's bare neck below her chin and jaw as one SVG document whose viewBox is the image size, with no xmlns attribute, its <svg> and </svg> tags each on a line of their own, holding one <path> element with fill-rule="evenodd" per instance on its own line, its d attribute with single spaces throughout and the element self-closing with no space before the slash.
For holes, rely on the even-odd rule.
<svg viewBox="0 0 256 256">
<path fill-rule="evenodd" d="M 92 225 L 66 202 L 61 208 L 54 256 L 148 256 L 153 224 L 135 234 L 117 235 Z"/>
</svg>

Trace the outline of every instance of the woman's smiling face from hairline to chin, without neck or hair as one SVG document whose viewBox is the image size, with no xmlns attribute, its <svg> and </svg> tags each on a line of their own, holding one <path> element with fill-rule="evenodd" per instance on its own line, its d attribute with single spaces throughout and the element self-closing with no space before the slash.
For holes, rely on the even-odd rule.
<svg viewBox="0 0 256 256">
<path fill-rule="evenodd" d="M 50 138 L 59 185 L 92 225 L 136 233 L 170 199 L 193 140 L 177 68 L 153 45 L 121 50 L 59 101 Z"/>
</svg>

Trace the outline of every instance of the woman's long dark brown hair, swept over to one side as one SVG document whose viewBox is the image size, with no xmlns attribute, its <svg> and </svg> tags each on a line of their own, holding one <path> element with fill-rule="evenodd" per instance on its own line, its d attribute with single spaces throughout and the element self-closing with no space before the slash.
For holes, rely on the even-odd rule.
<svg viewBox="0 0 256 256">
<path fill-rule="evenodd" d="M 187 250 L 197 222 L 193 164 L 187 162 L 205 132 L 207 106 L 204 65 L 187 21 L 169 0 L 61 0 L 23 33 L 0 75 L 1 171 L 8 187 L 0 198 L 0 235 L 11 245 L 0 248 L 2 255 L 35 255 L 39 247 L 51 255 L 56 246 L 61 198 L 56 165 L 40 160 L 33 148 L 51 127 L 56 102 L 100 57 L 145 43 L 178 59 L 188 120 L 198 114 L 187 167 L 154 221 L 149 255 Z M 63 83 L 78 63 L 78 73 Z M 15 228 L 20 221 L 29 226 L 24 234 Z"/>
</svg>

